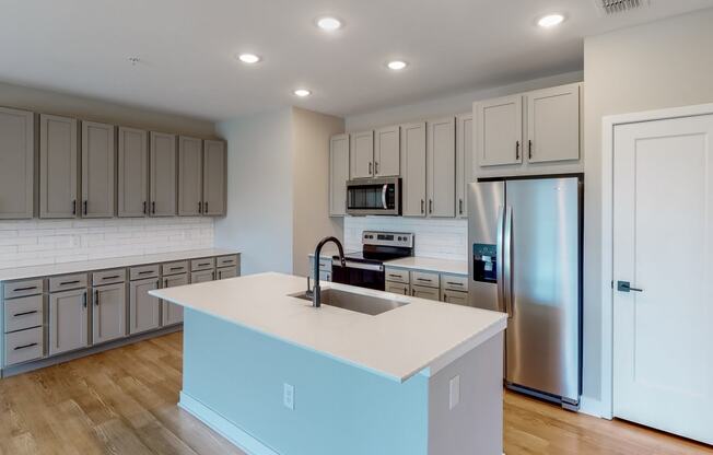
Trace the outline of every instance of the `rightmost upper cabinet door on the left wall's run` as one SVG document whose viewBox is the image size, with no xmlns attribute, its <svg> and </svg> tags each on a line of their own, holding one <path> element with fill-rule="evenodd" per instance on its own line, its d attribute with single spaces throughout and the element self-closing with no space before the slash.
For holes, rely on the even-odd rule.
<svg viewBox="0 0 713 455">
<path fill-rule="evenodd" d="M 203 214 L 225 214 L 226 161 L 225 142 L 203 142 Z"/>
</svg>

